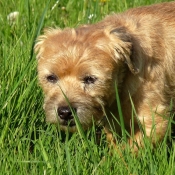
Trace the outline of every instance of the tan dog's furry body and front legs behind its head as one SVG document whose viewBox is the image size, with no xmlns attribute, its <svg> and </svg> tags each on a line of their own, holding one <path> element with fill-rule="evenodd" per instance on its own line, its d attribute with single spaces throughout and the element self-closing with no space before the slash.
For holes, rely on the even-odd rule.
<svg viewBox="0 0 175 175">
<path fill-rule="evenodd" d="M 130 59 L 139 73 L 126 71 L 119 90 L 122 108 L 127 109 L 126 127 L 130 128 L 130 96 L 146 134 L 151 135 L 155 123 L 156 135 L 163 138 L 175 110 L 175 2 L 130 9 L 97 25 L 111 26 L 117 37 L 132 43 Z M 139 132 L 135 134 L 139 140 Z"/>
</svg>

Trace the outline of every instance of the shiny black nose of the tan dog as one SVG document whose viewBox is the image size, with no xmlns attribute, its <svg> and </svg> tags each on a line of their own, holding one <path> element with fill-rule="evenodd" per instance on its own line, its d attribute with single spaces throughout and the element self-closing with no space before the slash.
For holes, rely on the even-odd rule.
<svg viewBox="0 0 175 175">
<path fill-rule="evenodd" d="M 72 108 L 72 110 L 76 112 L 76 108 Z M 59 107 L 57 112 L 58 116 L 65 121 L 73 119 L 72 111 L 69 106 Z"/>
</svg>

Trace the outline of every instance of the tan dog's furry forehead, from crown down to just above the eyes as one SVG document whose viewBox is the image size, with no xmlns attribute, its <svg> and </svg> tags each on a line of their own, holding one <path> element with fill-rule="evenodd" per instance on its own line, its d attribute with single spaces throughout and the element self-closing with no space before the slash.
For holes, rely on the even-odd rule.
<svg viewBox="0 0 175 175">
<path fill-rule="evenodd" d="M 102 33 L 93 34 L 92 28 L 67 29 L 47 35 L 43 43 L 39 69 L 45 66 L 59 76 L 70 74 L 104 74 L 113 70 L 113 59 L 96 47 Z M 44 63 L 44 64 L 43 64 Z M 42 68 L 41 68 L 42 67 Z M 102 69 L 103 68 L 103 69 Z M 105 71 L 106 70 L 106 71 Z"/>
</svg>

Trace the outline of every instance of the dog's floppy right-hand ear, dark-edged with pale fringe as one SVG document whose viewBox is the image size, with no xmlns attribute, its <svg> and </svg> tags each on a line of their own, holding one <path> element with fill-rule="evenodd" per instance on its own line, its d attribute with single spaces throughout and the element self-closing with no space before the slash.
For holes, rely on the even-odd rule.
<svg viewBox="0 0 175 175">
<path fill-rule="evenodd" d="M 131 59 L 133 50 L 131 35 L 126 31 L 124 27 L 112 29 L 110 31 L 110 35 L 110 38 L 113 40 L 113 46 L 115 47 L 115 59 L 124 61 L 133 74 L 139 73 L 139 69 L 134 64 L 134 60 Z M 117 41 L 115 43 L 116 38 Z"/>
</svg>

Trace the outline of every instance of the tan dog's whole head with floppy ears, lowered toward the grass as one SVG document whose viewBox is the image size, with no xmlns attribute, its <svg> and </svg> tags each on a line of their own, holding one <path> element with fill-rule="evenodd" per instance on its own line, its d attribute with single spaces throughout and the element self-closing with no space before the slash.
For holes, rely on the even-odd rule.
<svg viewBox="0 0 175 175">
<path fill-rule="evenodd" d="M 112 30 L 84 26 L 50 29 L 38 38 L 38 76 L 45 94 L 46 120 L 76 130 L 73 113 L 87 129 L 105 115 L 122 81 L 130 43 Z"/>
</svg>

